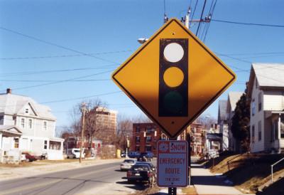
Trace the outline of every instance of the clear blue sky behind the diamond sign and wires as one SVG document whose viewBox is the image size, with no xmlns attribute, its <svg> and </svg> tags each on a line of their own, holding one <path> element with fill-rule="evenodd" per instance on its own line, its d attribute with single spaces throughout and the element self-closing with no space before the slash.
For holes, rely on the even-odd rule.
<svg viewBox="0 0 284 195">
<path fill-rule="evenodd" d="M 203 2 L 197 4 L 194 19 L 200 18 Z M 207 1 L 205 13 L 211 2 Z M 170 18 L 180 19 L 188 6 L 190 1 L 165 1 Z M 284 25 L 283 7 L 280 0 L 219 0 L 213 19 Z M 117 93 L 119 88 L 109 78 L 140 46 L 138 38 L 150 37 L 163 25 L 163 13 L 163 0 L 1 0 L 0 93 L 12 88 L 15 94 L 47 102 L 45 105 L 58 118 L 58 126 L 70 125 L 70 109 L 84 100 L 79 97 L 94 95 L 119 114 L 141 115 L 124 93 Z M 195 32 L 197 25 L 191 30 Z M 284 28 L 210 23 L 205 44 L 236 70 L 238 77 L 221 99 L 226 99 L 229 91 L 244 90 L 250 62 L 284 62 L 283 34 Z M 100 95 L 106 93 L 111 94 Z M 50 102 L 57 100 L 65 101 Z M 217 117 L 217 107 L 216 101 L 204 113 Z"/>
</svg>

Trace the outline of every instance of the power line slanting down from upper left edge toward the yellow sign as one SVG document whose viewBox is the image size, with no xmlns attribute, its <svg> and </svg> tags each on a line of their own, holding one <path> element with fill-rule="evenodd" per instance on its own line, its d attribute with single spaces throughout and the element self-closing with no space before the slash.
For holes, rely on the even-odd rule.
<svg viewBox="0 0 284 195">
<path fill-rule="evenodd" d="M 117 64 L 116 62 L 113 62 L 113 61 L 111 61 L 111 60 L 106 60 L 106 59 L 104 59 L 104 58 L 99 58 L 99 57 L 97 57 L 97 56 L 93 56 L 93 55 L 90 55 L 90 54 L 88 54 L 88 53 L 84 53 L 84 52 L 82 52 L 82 51 L 77 51 L 77 50 L 72 49 L 72 48 L 67 48 L 66 46 L 60 46 L 60 45 L 58 45 L 58 44 L 56 44 L 56 43 L 52 43 L 52 42 L 50 42 L 50 41 L 45 41 L 45 40 L 43 40 L 43 39 L 36 38 L 36 37 L 34 37 L 34 36 L 29 36 L 29 35 L 26 35 L 26 34 L 24 34 L 24 33 L 20 33 L 20 32 L 18 32 L 18 31 L 13 31 L 13 30 L 11 30 L 11 29 L 9 29 L 9 28 L 4 28 L 4 27 L 0 26 L 0 29 L 2 29 L 2 30 L 4 30 L 4 31 L 8 31 L 8 32 L 10 32 L 10 33 L 17 34 L 17 35 L 19 35 L 19 36 L 24 36 L 24 37 L 26 37 L 26 38 L 31 38 L 31 39 L 33 39 L 33 40 L 35 40 L 35 41 L 39 41 L 39 42 L 41 42 L 41 43 L 45 43 L 45 44 L 48 44 L 48 45 L 50 45 L 50 46 L 55 46 L 55 47 L 58 47 L 58 48 L 65 49 L 65 50 L 67 50 L 67 51 L 72 51 L 72 52 L 75 52 L 75 53 L 80 53 L 80 54 L 83 55 L 83 56 L 89 56 L 89 57 L 92 57 L 92 58 L 97 58 L 98 60 L 103 60 L 103 61 L 106 61 L 106 62 L 109 62 L 109 63 Z"/>
</svg>

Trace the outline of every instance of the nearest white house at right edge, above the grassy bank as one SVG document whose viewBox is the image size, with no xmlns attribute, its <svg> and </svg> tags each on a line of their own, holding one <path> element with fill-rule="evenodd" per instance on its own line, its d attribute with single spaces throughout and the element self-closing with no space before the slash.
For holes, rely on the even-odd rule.
<svg viewBox="0 0 284 195">
<path fill-rule="evenodd" d="M 284 64 L 253 63 L 247 95 L 251 152 L 284 152 Z"/>
</svg>

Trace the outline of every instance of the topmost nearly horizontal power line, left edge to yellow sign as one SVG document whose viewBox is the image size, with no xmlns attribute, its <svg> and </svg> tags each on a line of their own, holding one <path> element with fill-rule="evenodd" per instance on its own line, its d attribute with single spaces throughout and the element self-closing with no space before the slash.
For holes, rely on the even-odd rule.
<svg viewBox="0 0 284 195">
<path fill-rule="evenodd" d="M 123 50 L 123 51 L 108 51 L 108 52 L 100 52 L 100 53 L 87 53 L 88 55 L 106 55 L 106 54 L 114 54 L 114 53 L 126 53 L 131 52 L 133 50 Z M 67 58 L 67 57 L 80 57 L 85 56 L 83 54 L 65 54 L 58 56 L 31 56 L 31 57 L 13 57 L 13 58 L 0 58 L 0 60 L 29 60 L 29 59 L 42 59 L 42 58 Z"/>
</svg>

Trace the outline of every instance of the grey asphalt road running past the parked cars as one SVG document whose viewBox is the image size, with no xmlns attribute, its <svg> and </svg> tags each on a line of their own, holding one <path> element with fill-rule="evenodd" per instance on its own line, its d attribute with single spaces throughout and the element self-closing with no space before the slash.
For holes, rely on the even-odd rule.
<svg viewBox="0 0 284 195">
<path fill-rule="evenodd" d="M 122 160 L 121 160 L 122 161 Z M 0 194 L 131 194 L 145 184 L 127 184 L 120 162 L 0 182 Z"/>
</svg>

